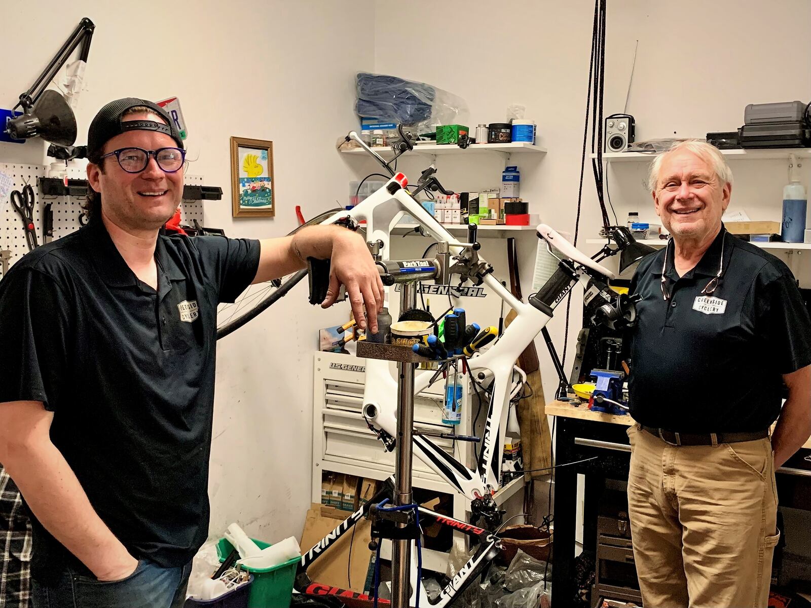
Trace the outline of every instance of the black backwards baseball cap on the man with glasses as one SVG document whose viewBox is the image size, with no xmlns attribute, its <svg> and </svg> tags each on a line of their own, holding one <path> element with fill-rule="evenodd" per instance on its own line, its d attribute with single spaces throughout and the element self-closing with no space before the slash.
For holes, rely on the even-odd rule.
<svg viewBox="0 0 811 608">
<path fill-rule="evenodd" d="M 127 110 L 143 105 L 166 121 L 166 124 L 151 120 L 122 120 Z M 183 148 L 183 140 L 180 139 L 178 127 L 174 124 L 169 114 L 160 105 L 138 99 L 137 97 L 124 97 L 116 101 L 110 101 L 96 114 L 88 130 L 88 152 L 87 157 L 92 162 L 101 156 L 104 144 L 116 135 L 121 135 L 127 131 L 158 131 L 169 135 L 178 148 Z"/>
</svg>

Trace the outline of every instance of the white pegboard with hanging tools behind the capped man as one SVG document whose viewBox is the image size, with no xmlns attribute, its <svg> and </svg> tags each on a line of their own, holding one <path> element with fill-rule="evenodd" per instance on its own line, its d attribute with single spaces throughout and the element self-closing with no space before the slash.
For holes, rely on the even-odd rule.
<svg viewBox="0 0 811 608">
<path fill-rule="evenodd" d="M 37 178 L 47 177 L 48 169 L 49 167 L 45 165 L 0 164 L 0 170 L 11 178 L 11 190 L 22 191 L 23 186 L 26 184 L 31 184 L 34 189 L 33 219 L 36 228 L 36 239 L 40 245 L 45 244 L 45 235 L 42 233 L 42 216 L 46 203 L 53 204 L 54 240 L 56 240 L 80 228 L 79 216 L 82 211 L 81 205 L 84 202 L 84 196 L 42 195 L 36 180 Z M 67 173 L 67 177 L 71 179 L 85 179 L 87 177 L 84 167 L 69 167 Z M 186 175 L 183 178 L 183 183 L 187 186 L 202 186 L 203 176 Z M 204 224 L 203 201 L 184 200 L 180 206 L 180 217 L 183 224 L 194 225 L 192 220 Z M 25 239 L 23 220 L 11 204 L 11 191 L 4 199 L 0 200 L 0 249 L 11 251 L 9 266 L 28 253 L 28 242 Z M 2 276 L 2 270 L 0 270 L 0 276 Z"/>
</svg>

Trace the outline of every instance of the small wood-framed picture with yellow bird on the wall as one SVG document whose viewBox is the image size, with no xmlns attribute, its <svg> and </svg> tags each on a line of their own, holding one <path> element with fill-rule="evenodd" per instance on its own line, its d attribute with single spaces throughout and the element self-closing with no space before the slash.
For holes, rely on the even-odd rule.
<svg viewBox="0 0 811 608">
<path fill-rule="evenodd" d="M 273 142 L 231 138 L 231 197 L 234 217 L 276 215 Z"/>
</svg>

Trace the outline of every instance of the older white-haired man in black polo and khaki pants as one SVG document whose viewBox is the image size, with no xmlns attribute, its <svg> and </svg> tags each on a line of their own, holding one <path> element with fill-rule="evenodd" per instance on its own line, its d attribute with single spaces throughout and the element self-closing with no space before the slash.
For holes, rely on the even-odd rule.
<svg viewBox="0 0 811 608">
<path fill-rule="evenodd" d="M 718 149 L 674 144 L 652 163 L 650 190 L 672 239 L 631 288 L 642 298 L 628 484 L 642 599 L 766 606 L 775 468 L 811 435 L 811 319 L 786 265 L 724 228 L 732 171 Z"/>
</svg>

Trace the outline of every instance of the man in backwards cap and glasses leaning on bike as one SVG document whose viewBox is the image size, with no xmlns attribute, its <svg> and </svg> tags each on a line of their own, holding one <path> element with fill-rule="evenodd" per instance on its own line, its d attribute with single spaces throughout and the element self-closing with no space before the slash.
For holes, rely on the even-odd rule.
<svg viewBox="0 0 811 608">
<path fill-rule="evenodd" d="M 89 224 L 0 285 L 0 462 L 32 512 L 36 608 L 182 606 L 208 535 L 217 303 L 331 259 L 376 332 L 383 285 L 358 234 L 163 237 L 185 152 L 163 109 L 113 101 L 88 133 Z"/>
</svg>

